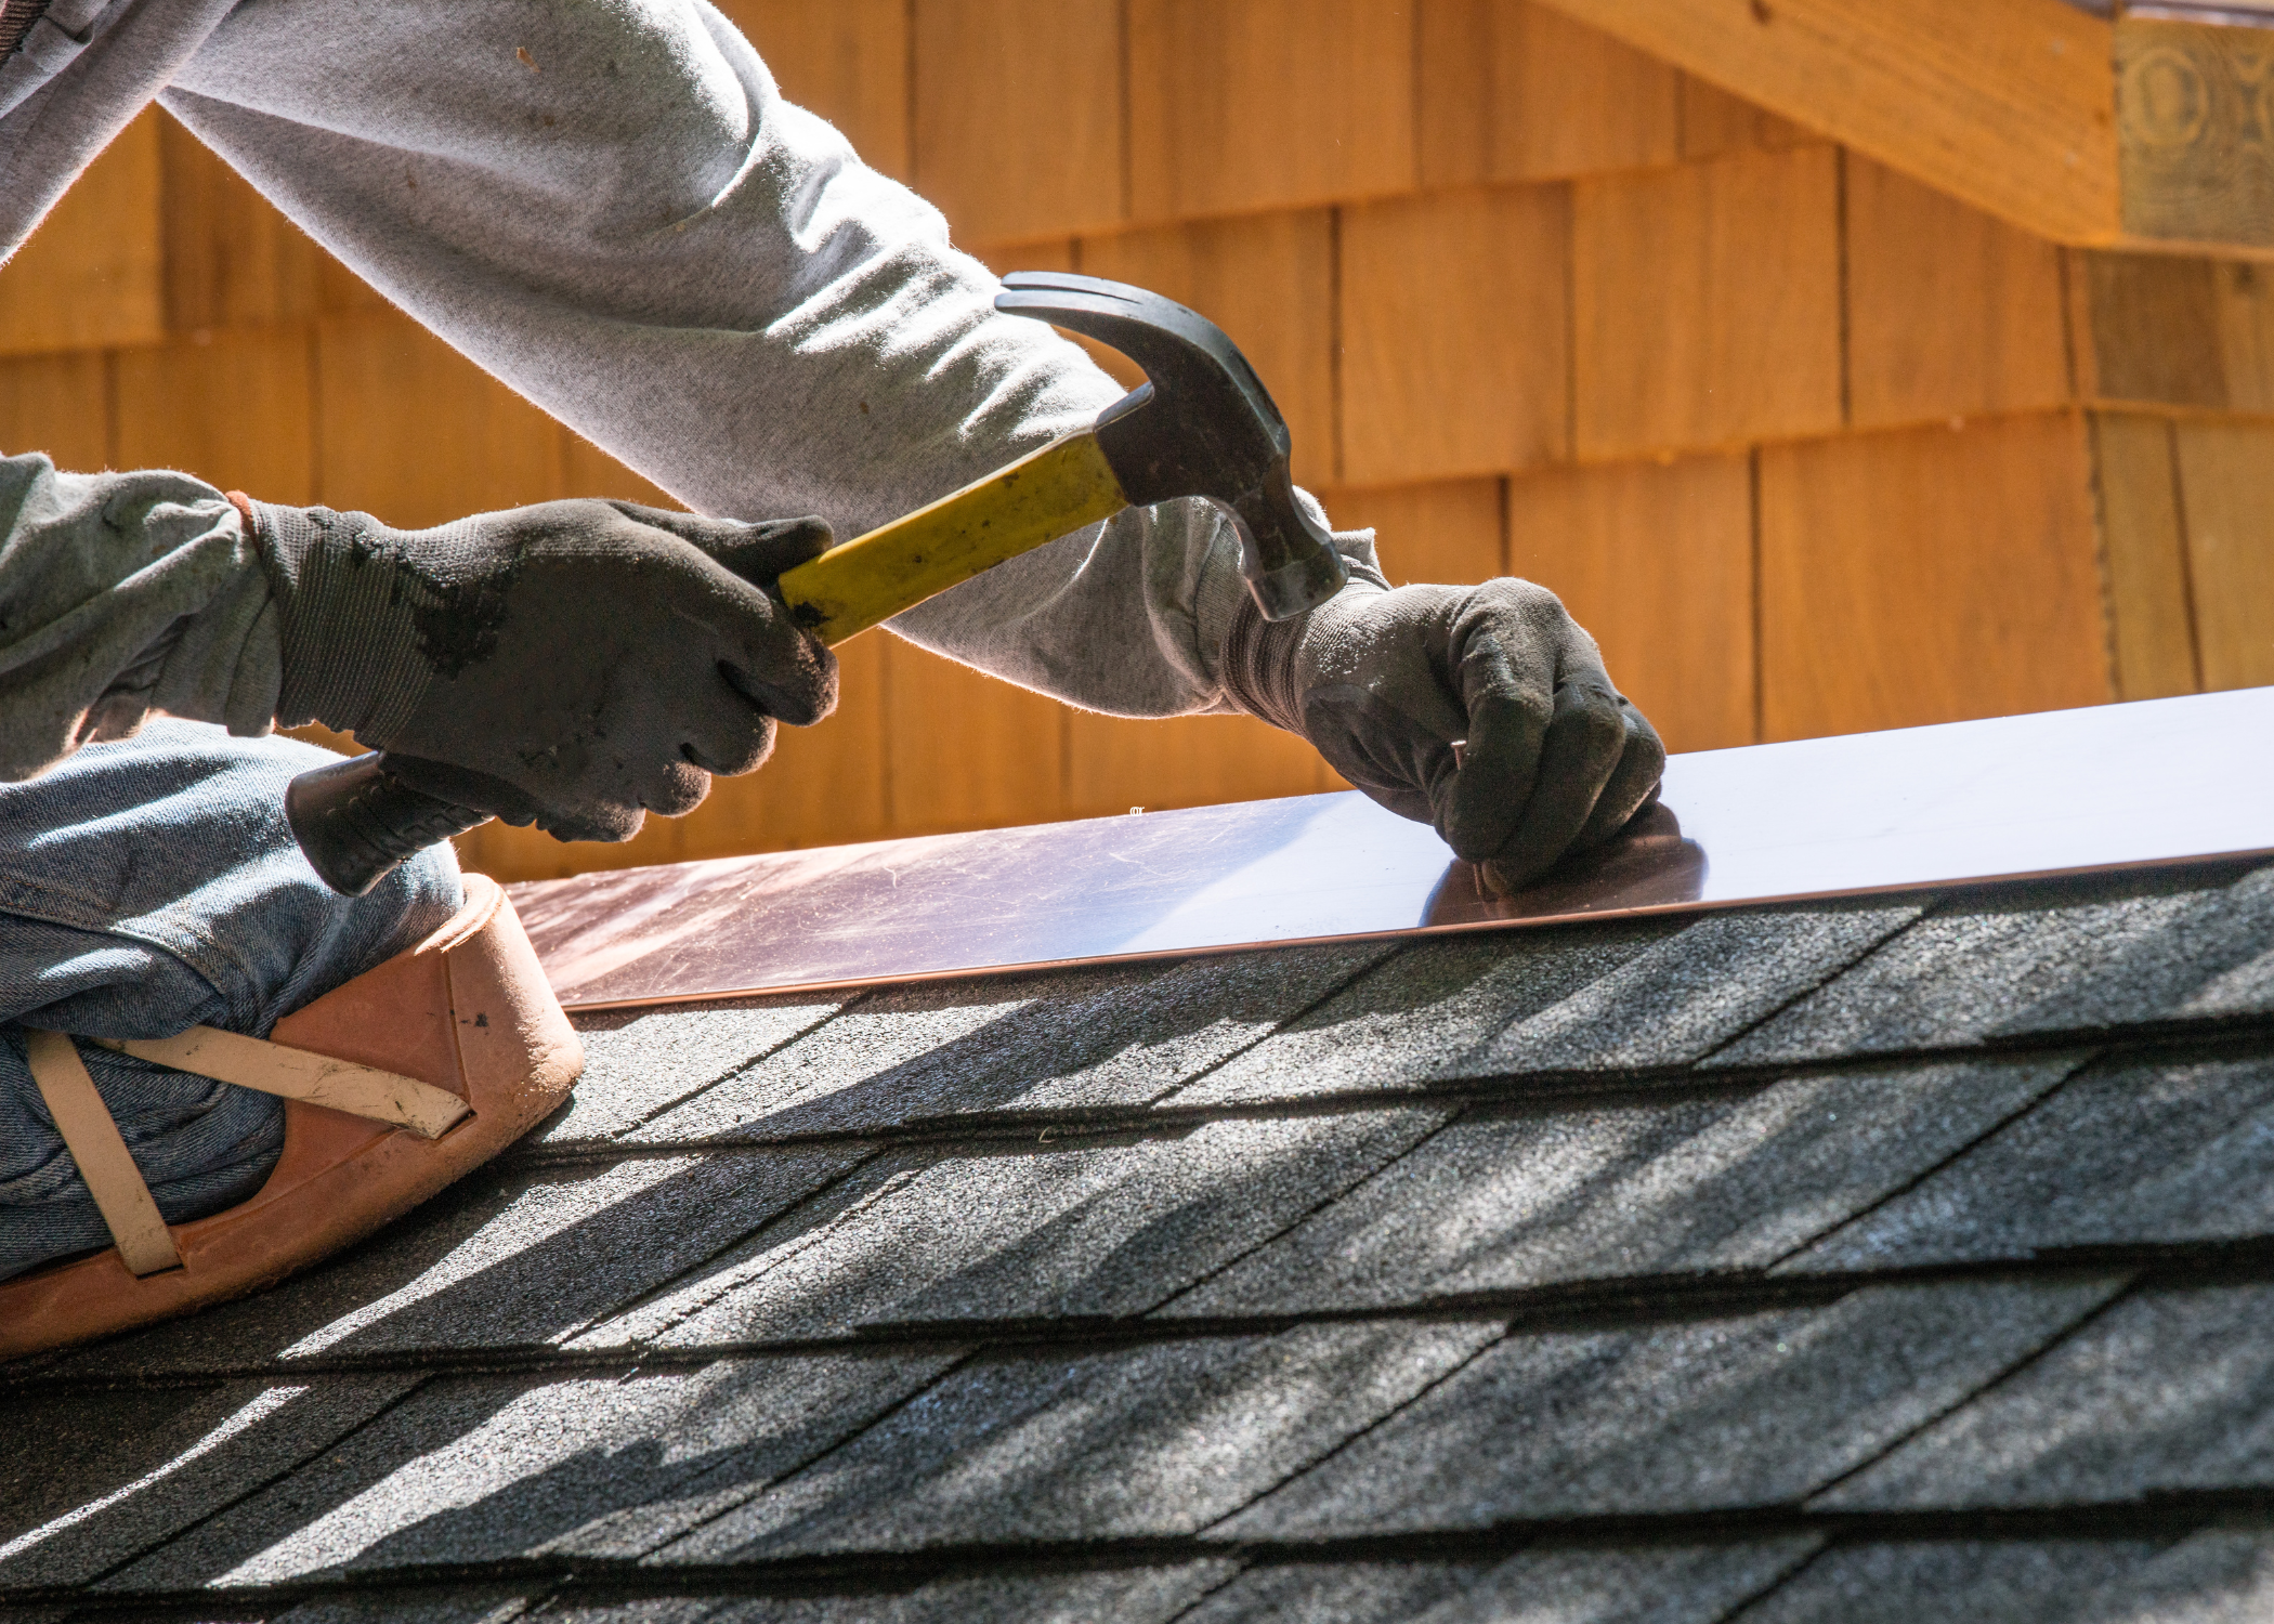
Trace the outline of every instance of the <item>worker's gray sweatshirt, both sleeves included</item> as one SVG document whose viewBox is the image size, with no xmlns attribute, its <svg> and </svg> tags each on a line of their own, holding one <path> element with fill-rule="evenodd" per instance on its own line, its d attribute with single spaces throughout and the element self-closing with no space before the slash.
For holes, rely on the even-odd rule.
<svg viewBox="0 0 2274 1624">
<path fill-rule="evenodd" d="M 850 537 L 1121 393 L 998 316 L 939 212 L 785 102 L 705 0 L 55 0 L 0 66 L 0 252 L 150 100 L 698 512 Z M 1342 546 L 1380 580 L 1369 535 Z M 1089 710 L 1173 716 L 1226 710 L 1239 591 L 1228 521 L 1164 503 L 894 630 Z M 0 459 L 0 778 L 150 707 L 257 732 L 275 696 L 266 575 L 214 487 Z"/>
</svg>

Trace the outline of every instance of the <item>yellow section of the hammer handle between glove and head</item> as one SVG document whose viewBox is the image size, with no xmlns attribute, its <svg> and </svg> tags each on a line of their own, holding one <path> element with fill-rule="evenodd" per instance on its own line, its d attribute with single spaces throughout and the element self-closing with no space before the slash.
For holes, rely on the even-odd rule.
<svg viewBox="0 0 2274 1624">
<path fill-rule="evenodd" d="M 798 625 L 823 644 L 841 644 L 982 569 L 1123 507 L 1128 498 L 1098 437 L 1082 430 L 785 571 L 782 598 Z"/>
</svg>

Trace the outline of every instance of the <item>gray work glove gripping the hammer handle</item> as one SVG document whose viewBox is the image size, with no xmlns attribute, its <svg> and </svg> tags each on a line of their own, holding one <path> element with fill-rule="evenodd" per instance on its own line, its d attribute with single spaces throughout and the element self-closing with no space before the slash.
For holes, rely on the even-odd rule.
<svg viewBox="0 0 2274 1624">
<path fill-rule="evenodd" d="M 775 719 L 837 705 L 837 660 L 773 594 L 828 548 L 819 519 L 566 500 L 389 530 L 232 500 L 275 589 L 277 721 L 352 732 L 509 823 L 630 839 L 764 762 Z"/>
</svg>

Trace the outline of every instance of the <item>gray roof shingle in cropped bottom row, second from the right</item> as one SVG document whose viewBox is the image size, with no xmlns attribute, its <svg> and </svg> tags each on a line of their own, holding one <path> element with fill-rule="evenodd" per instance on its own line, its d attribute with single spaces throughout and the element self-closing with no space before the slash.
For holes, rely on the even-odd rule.
<svg viewBox="0 0 2274 1624">
<path fill-rule="evenodd" d="M 1756 1544 L 1521 1551 L 1505 1563 L 1292 1563 L 1251 1567 L 1182 1624 L 1717 1624 L 1815 1551 Z"/>
</svg>

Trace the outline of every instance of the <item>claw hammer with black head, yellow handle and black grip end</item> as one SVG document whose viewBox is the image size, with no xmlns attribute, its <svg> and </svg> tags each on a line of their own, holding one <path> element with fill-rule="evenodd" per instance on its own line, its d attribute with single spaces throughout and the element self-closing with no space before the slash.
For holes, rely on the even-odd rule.
<svg viewBox="0 0 2274 1624">
<path fill-rule="evenodd" d="M 1089 428 L 1030 450 L 953 496 L 894 519 L 785 571 L 791 616 L 841 644 L 932 594 L 1123 507 L 1205 496 L 1239 532 L 1239 573 L 1267 621 L 1303 614 L 1342 589 L 1333 539 L 1296 507 L 1287 423 L 1223 332 L 1182 305 L 1121 282 L 1021 271 L 996 309 L 1110 343 L 1146 382 Z M 446 762 L 373 751 L 291 780 L 284 812 L 309 867 L 362 896 L 425 846 L 528 805 L 512 785 Z M 493 798 L 493 810 L 466 805 Z"/>
</svg>

